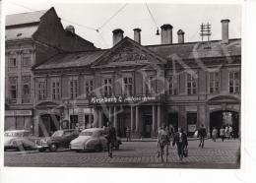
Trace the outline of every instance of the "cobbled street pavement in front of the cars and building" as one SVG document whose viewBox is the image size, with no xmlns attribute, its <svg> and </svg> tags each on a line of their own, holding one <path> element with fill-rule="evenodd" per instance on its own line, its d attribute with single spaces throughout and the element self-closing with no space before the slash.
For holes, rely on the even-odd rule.
<svg viewBox="0 0 256 183">
<path fill-rule="evenodd" d="M 156 142 L 123 142 L 120 150 L 113 152 L 15 152 L 4 153 L 5 166 L 27 167 L 147 167 L 147 168 L 239 168 L 237 155 L 240 141 L 205 141 L 204 149 L 198 148 L 199 141 L 188 142 L 188 157 L 180 162 L 176 148 L 169 147 L 168 162 L 157 156 Z"/>
</svg>

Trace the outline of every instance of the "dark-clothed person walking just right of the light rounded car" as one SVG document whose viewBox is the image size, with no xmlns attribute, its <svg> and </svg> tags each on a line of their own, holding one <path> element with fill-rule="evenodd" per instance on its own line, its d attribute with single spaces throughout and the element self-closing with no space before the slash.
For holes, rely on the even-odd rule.
<svg viewBox="0 0 256 183">
<path fill-rule="evenodd" d="M 107 127 L 105 128 L 106 131 L 106 140 L 107 140 L 107 152 L 109 157 L 113 157 L 113 147 L 114 142 L 116 141 L 116 132 L 115 128 L 112 126 L 112 123 L 110 121 L 107 122 Z"/>
</svg>

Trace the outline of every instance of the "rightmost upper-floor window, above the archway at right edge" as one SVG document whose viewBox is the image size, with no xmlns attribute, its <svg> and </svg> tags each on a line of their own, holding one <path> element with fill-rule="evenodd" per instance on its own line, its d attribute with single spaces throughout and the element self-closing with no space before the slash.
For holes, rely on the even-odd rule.
<svg viewBox="0 0 256 183">
<path fill-rule="evenodd" d="M 239 71 L 229 72 L 229 92 L 239 93 L 240 92 L 240 73 Z"/>
</svg>

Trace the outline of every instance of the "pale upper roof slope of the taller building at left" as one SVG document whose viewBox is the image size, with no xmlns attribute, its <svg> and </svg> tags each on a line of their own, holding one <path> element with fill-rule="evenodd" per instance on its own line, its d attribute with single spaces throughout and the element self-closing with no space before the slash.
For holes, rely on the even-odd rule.
<svg viewBox="0 0 256 183">
<path fill-rule="evenodd" d="M 6 27 L 8 28 L 8 27 L 14 27 L 18 25 L 39 23 L 40 17 L 45 13 L 46 13 L 46 10 L 8 15 L 6 16 Z"/>
</svg>

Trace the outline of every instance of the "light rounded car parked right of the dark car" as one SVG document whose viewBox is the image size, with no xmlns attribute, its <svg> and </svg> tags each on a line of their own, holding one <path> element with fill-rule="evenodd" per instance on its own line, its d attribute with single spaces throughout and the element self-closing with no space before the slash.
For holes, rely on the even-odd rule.
<svg viewBox="0 0 256 183">
<path fill-rule="evenodd" d="M 117 137 L 114 143 L 115 150 L 118 150 L 121 144 L 121 139 Z M 79 137 L 70 143 L 70 150 L 76 152 L 101 152 L 104 149 L 107 149 L 107 140 L 105 138 L 105 132 L 102 128 L 91 128 L 83 130 Z"/>
</svg>

